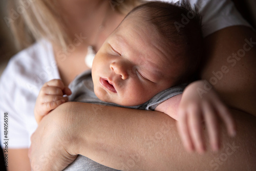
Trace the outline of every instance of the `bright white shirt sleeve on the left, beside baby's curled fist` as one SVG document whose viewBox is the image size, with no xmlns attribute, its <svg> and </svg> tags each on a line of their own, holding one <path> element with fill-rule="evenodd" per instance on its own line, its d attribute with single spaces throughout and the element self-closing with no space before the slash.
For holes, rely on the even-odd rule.
<svg viewBox="0 0 256 171">
<path fill-rule="evenodd" d="M 28 148 L 37 123 L 34 106 L 42 85 L 59 78 L 51 45 L 41 41 L 19 52 L 9 61 L 0 79 L 1 145 L 9 139 L 9 148 Z M 8 113 L 8 135 L 4 113 Z"/>
</svg>

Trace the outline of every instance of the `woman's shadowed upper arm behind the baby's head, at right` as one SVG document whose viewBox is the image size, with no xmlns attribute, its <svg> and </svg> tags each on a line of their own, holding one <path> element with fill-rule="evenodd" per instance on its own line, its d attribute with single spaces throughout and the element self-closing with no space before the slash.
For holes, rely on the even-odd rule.
<svg viewBox="0 0 256 171">
<path fill-rule="evenodd" d="M 256 116 L 256 34 L 233 26 L 205 38 L 207 61 L 202 70 L 205 91 L 210 82 L 230 108 Z"/>
</svg>

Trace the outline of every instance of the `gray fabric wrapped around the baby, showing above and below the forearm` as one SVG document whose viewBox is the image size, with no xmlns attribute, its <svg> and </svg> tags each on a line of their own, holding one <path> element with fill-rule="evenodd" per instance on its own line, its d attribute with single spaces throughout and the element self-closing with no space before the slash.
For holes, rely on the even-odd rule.
<svg viewBox="0 0 256 171">
<path fill-rule="evenodd" d="M 78 101 L 85 103 L 94 103 L 101 105 L 110 105 L 110 106 L 120 106 L 124 108 L 132 108 L 132 109 L 142 109 L 142 110 L 155 110 L 156 106 L 161 102 L 181 94 L 185 89 L 186 84 L 182 84 L 181 86 L 172 87 L 166 89 L 157 95 L 155 95 L 152 99 L 147 102 L 136 105 L 136 106 L 122 106 L 115 103 L 108 103 L 101 101 L 97 98 L 93 91 L 93 81 L 91 76 L 91 71 L 84 72 L 77 76 L 74 81 L 70 84 L 70 89 L 72 91 L 72 95 L 69 96 L 70 101 Z M 67 170 L 116 170 L 110 167 L 103 166 L 87 157 L 78 155 L 77 159 L 70 164 L 65 171 Z"/>
</svg>

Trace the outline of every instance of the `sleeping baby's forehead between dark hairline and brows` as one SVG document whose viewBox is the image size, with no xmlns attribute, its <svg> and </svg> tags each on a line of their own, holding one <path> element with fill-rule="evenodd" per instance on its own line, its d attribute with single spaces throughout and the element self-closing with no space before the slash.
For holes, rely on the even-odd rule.
<svg viewBox="0 0 256 171">
<path fill-rule="evenodd" d="M 125 34 L 129 34 L 129 36 Z M 165 68 L 170 60 L 173 60 L 167 40 L 150 21 L 141 15 L 136 15 L 136 12 L 123 20 L 116 35 L 121 35 L 124 40 L 134 36 L 135 39 L 129 45 L 134 46 L 135 49 L 140 47 L 139 50 L 142 52 L 142 56 L 145 55 L 148 59 L 164 61 L 161 68 Z M 147 50 L 145 51 L 145 49 Z"/>
</svg>

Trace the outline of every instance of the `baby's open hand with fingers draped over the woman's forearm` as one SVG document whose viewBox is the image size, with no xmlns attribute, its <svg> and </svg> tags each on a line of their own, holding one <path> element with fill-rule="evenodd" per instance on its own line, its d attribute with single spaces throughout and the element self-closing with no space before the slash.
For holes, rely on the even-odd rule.
<svg viewBox="0 0 256 171">
<path fill-rule="evenodd" d="M 204 82 L 196 81 L 185 89 L 178 109 L 178 130 L 183 145 L 188 151 L 206 150 L 203 141 L 203 124 L 209 134 L 209 142 L 213 151 L 220 148 L 219 118 L 223 120 L 230 136 L 236 135 L 236 125 L 227 107 L 214 90 L 199 94 Z"/>
</svg>

